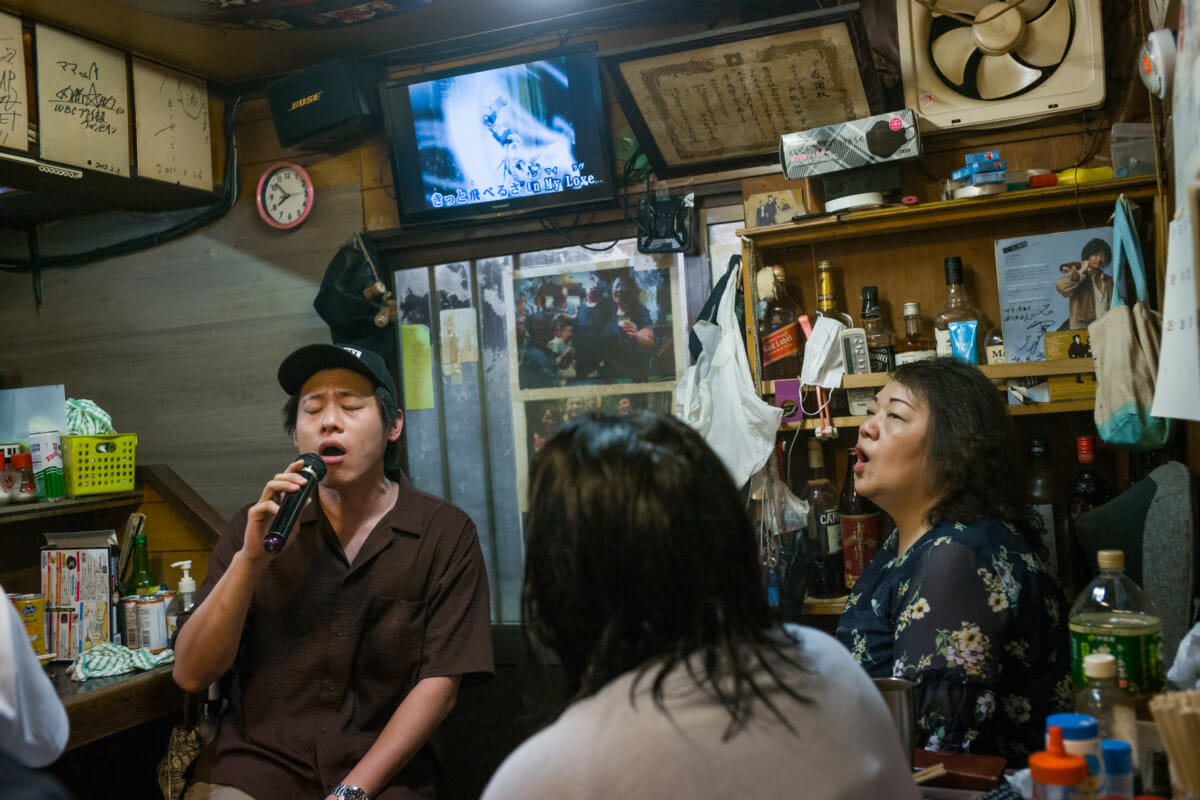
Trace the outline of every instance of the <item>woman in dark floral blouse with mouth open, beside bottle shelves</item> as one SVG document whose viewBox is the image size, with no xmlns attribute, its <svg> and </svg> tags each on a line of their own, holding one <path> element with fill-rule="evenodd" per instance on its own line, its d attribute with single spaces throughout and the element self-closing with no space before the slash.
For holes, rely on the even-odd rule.
<svg viewBox="0 0 1200 800">
<path fill-rule="evenodd" d="M 858 429 L 854 488 L 895 522 L 846 600 L 838 639 L 872 678 L 913 682 L 916 744 L 1044 750 L 1073 705 L 1066 599 L 1000 392 L 954 359 L 896 368 Z"/>
</svg>

